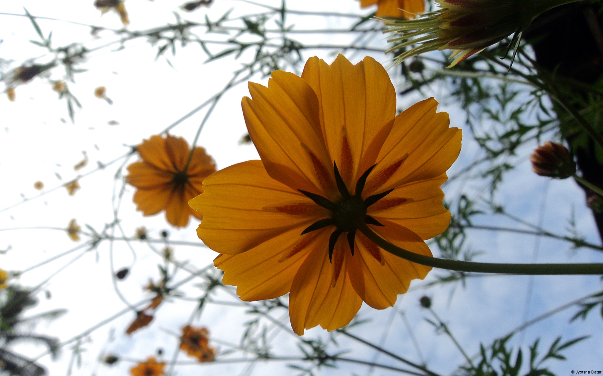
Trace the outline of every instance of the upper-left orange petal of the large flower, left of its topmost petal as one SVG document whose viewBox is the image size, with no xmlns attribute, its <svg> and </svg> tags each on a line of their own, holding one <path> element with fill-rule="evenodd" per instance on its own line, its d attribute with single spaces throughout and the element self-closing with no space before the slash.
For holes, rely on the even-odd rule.
<svg viewBox="0 0 603 376">
<path fill-rule="evenodd" d="M 325 172 L 331 162 L 312 88 L 277 70 L 268 87 L 250 82 L 249 91 L 253 99 L 243 98 L 243 115 L 268 174 L 290 187 L 326 193 L 332 186 Z"/>
</svg>

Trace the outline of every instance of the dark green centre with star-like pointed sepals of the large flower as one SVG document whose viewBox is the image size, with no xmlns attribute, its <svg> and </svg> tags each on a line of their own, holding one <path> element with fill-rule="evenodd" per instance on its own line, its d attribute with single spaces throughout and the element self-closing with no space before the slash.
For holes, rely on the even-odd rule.
<svg viewBox="0 0 603 376">
<path fill-rule="evenodd" d="M 374 167 L 375 165 L 372 165 L 368 170 L 364 171 L 364 174 L 362 174 L 361 177 L 359 177 L 358 182 L 356 182 L 355 192 L 352 195 L 350 194 L 350 191 L 347 190 L 346 183 L 343 181 L 341 174 L 339 174 L 337 165 L 333 162 L 333 173 L 335 174 L 337 190 L 342 197 L 342 200 L 339 203 L 333 203 L 326 197 L 320 196 L 320 194 L 298 190 L 318 205 L 331 211 L 330 218 L 318 220 L 301 232 L 301 235 L 303 235 L 314 230 L 322 229 L 326 226 L 335 226 L 336 229 L 331 233 L 329 238 L 329 260 L 333 259 L 335 244 L 339 239 L 339 236 L 344 232 L 347 232 L 347 241 L 350 245 L 350 251 L 352 252 L 352 256 L 354 255 L 354 241 L 359 222 L 364 221 L 364 223 L 374 224 L 375 226 L 383 226 L 375 218 L 367 215 L 367 208 L 390 194 L 393 190 L 374 194 L 364 200 L 362 199 L 362 190 L 367 182 L 368 174 L 373 171 Z"/>
</svg>

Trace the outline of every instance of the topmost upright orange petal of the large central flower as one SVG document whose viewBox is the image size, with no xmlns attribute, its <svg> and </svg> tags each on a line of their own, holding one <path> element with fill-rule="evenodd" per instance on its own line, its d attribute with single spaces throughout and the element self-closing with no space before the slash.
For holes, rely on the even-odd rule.
<svg viewBox="0 0 603 376">
<path fill-rule="evenodd" d="M 396 91 L 384 67 L 365 57 L 352 65 L 339 55 L 330 66 L 313 57 L 301 77 L 318 96 L 321 127 L 332 170 L 337 162 L 349 189 L 374 164 L 393 126 Z M 255 141 L 254 141 L 254 144 Z"/>
</svg>

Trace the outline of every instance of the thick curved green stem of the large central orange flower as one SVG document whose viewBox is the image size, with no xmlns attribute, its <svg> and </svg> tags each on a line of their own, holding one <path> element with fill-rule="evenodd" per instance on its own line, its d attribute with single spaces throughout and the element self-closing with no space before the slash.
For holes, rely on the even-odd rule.
<svg viewBox="0 0 603 376">
<path fill-rule="evenodd" d="M 528 274 L 534 276 L 603 274 L 603 264 L 494 264 L 490 262 L 469 262 L 423 256 L 422 254 L 407 251 L 391 244 L 369 229 L 364 222 L 357 223 L 356 226 L 367 238 L 391 254 L 433 268 L 473 273 Z"/>
</svg>

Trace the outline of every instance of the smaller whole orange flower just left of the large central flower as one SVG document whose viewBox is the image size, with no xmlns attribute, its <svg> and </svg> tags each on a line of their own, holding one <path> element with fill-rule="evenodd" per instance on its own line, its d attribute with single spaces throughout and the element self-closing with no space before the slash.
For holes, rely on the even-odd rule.
<svg viewBox="0 0 603 376">
<path fill-rule="evenodd" d="M 216 171 L 215 162 L 203 147 L 195 147 L 191 164 L 189 146 L 184 138 L 153 136 L 137 147 L 141 162 L 128 166 L 127 181 L 137 189 L 134 203 L 144 215 L 165 210 L 169 223 L 176 227 L 188 224 L 189 216 L 203 217 L 186 203 L 203 193 L 203 179 Z"/>
</svg>

